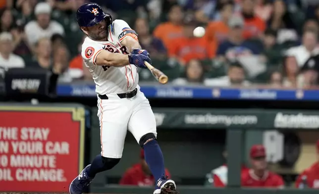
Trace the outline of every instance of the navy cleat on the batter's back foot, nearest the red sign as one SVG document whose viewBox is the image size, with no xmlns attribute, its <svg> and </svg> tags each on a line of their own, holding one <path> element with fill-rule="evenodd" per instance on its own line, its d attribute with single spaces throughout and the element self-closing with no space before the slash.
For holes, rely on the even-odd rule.
<svg viewBox="0 0 319 194">
<path fill-rule="evenodd" d="M 88 167 L 90 167 L 91 164 L 87 165 L 82 172 L 77 176 L 70 184 L 69 192 L 70 194 L 83 194 L 85 192 L 91 181 L 93 180 L 92 178 L 87 176 L 86 170 Z"/>
</svg>

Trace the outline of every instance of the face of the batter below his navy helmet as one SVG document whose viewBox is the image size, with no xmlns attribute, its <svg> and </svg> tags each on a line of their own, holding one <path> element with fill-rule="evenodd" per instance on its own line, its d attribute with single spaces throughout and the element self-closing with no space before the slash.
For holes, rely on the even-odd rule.
<svg viewBox="0 0 319 194">
<path fill-rule="evenodd" d="M 94 26 L 82 28 L 82 30 L 86 35 L 94 40 L 102 41 L 107 38 L 107 25 L 105 20 Z"/>
</svg>

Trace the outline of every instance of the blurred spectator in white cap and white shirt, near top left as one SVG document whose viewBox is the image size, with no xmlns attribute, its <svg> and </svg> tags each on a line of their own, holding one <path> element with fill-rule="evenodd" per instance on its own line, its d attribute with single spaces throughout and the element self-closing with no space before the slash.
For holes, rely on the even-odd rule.
<svg viewBox="0 0 319 194">
<path fill-rule="evenodd" d="M 51 6 L 46 2 L 39 2 L 34 10 L 37 17 L 36 21 L 29 22 L 24 31 L 31 46 L 39 41 L 40 38 L 51 38 L 53 34 L 64 35 L 61 24 L 51 20 Z"/>
</svg>

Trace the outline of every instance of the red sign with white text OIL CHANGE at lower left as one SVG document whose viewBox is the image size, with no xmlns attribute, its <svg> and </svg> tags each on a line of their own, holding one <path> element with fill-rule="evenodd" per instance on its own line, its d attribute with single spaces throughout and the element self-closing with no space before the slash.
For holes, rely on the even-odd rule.
<svg viewBox="0 0 319 194">
<path fill-rule="evenodd" d="M 0 107 L 0 192 L 68 192 L 83 167 L 83 115 L 13 107 Z"/>
</svg>

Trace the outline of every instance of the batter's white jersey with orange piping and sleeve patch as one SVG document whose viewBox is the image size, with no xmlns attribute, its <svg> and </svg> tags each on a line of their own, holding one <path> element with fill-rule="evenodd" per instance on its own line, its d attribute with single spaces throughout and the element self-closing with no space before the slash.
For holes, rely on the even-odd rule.
<svg viewBox="0 0 319 194">
<path fill-rule="evenodd" d="M 87 37 L 82 45 L 82 57 L 93 76 L 96 84 L 96 93 L 100 95 L 111 93 L 126 93 L 139 89 L 138 70 L 133 64 L 124 67 L 110 67 L 96 65 L 97 55 L 102 50 L 113 53 L 129 54 L 128 48 L 121 45 L 127 36 L 119 37 L 123 31 L 130 30 L 130 26 L 123 20 L 114 20 L 108 28 L 107 41 L 94 41 Z"/>
</svg>

